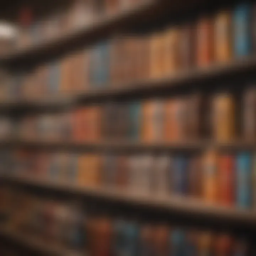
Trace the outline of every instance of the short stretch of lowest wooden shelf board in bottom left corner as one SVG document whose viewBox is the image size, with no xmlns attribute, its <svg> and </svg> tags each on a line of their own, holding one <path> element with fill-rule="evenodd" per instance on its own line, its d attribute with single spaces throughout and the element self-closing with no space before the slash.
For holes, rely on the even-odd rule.
<svg viewBox="0 0 256 256">
<path fill-rule="evenodd" d="M 0 236 L 14 242 L 15 244 L 21 245 L 22 247 L 30 250 L 43 253 L 44 255 L 55 255 L 55 256 L 82 256 L 75 250 L 65 249 L 63 246 L 50 245 L 35 236 L 28 236 L 23 233 L 19 233 L 11 228 L 5 226 L 0 227 Z"/>
</svg>

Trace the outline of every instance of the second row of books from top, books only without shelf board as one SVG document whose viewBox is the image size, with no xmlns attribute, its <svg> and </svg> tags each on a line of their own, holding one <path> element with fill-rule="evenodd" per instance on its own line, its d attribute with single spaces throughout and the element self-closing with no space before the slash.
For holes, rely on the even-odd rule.
<svg viewBox="0 0 256 256">
<path fill-rule="evenodd" d="M 256 48 L 255 24 L 252 6 L 239 5 L 214 19 L 200 18 L 196 25 L 114 38 L 15 77 L 2 74 L 1 94 L 38 98 L 110 85 L 128 86 L 130 82 L 162 78 L 193 66 L 234 60 L 251 55 L 252 48 Z"/>
</svg>

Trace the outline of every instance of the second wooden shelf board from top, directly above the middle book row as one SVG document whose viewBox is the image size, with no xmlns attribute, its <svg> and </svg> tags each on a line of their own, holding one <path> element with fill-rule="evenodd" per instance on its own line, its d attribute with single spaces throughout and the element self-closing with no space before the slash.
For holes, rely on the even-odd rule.
<svg viewBox="0 0 256 256">
<path fill-rule="evenodd" d="M 208 68 L 195 68 L 191 70 L 178 71 L 174 75 L 159 79 L 148 79 L 131 82 L 129 84 L 113 87 L 106 86 L 103 89 L 91 89 L 77 94 L 56 95 L 34 100 L 17 100 L 0 103 L 3 110 L 60 110 L 68 109 L 81 102 L 101 102 L 102 100 L 113 100 L 118 98 L 134 98 L 146 94 L 155 96 L 159 93 L 171 94 L 175 90 L 184 88 L 195 89 L 200 85 L 222 84 L 227 79 L 240 79 L 243 75 L 253 75 L 256 68 L 256 57 L 242 58 L 225 64 L 213 64 Z M 247 76 L 246 76 L 247 78 Z M 240 81 L 239 80 L 239 81 Z M 230 82 L 230 81 L 229 81 Z M 209 85 L 209 83 L 211 85 Z M 241 86 L 244 84 L 241 82 Z M 210 87 L 209 87 L 210 89 Z M 170 91 L 174 90 L 174 91 Z"/>
</svg>

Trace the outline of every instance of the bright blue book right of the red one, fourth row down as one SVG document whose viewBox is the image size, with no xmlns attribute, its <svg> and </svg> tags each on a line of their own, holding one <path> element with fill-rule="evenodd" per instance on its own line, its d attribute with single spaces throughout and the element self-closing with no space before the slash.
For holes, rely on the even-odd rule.
<svg viewBox="0 0 256 256">
<path fill-rule="evenodd" d="M 251 207 L 252 159 L 249 154 L 237 157 L 236 164 L 236 203 L 239 207 Z"/>
</svg>

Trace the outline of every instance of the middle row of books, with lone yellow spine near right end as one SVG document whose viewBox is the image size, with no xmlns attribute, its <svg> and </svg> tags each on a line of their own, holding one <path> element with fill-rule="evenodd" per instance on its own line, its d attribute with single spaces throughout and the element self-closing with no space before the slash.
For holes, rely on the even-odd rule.
<svg viewBox="0 0 256 256">
<path fill-rule="evenodd" d="M 240 97 L 240 96 L 239 96 Z M 200 93 L 133 102 L 107 102 L 61 113 L 0 118 L 0 138 L 46 142 L 232 142 L 256 137 L 256 89 L 238 99 Z"/>
</svg>

